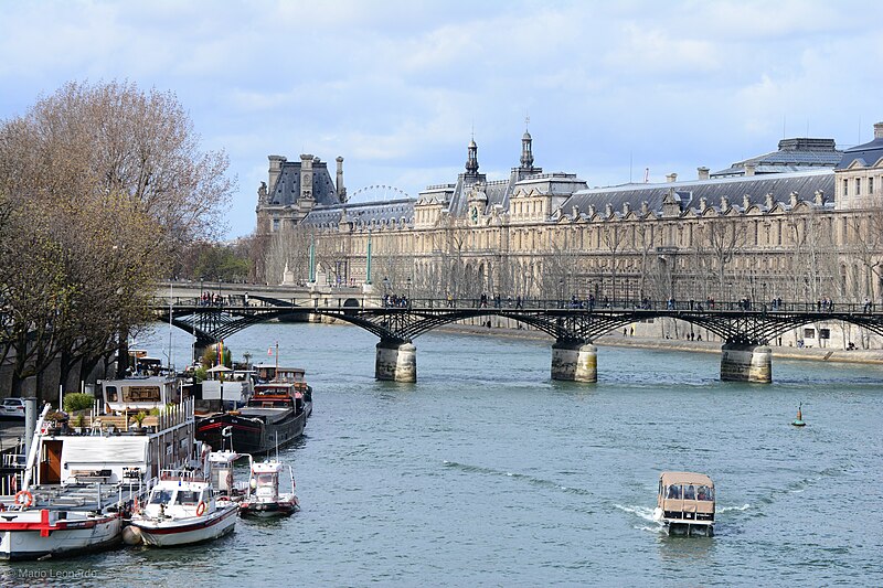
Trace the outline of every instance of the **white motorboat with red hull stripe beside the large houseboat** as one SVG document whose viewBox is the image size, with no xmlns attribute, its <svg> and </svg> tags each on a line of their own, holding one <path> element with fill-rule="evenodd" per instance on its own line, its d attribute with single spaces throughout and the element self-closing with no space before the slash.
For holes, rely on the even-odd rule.
<svg viewBox="0 0 883 588">
<path fill-rule="evenodd" d="M 206 455 L 202 469 L 163 471 L 147 502 L 132 514 L 126 543 L 170 547 L 215 539 L 233 531 L 238 505 L 215 496 L 210 468 Z"/>
</svg>

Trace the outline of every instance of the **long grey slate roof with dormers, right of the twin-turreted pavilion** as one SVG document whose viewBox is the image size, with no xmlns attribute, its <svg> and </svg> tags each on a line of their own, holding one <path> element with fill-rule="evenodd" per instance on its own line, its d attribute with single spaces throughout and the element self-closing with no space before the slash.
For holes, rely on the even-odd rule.
<svg viewBox="0 0 883 588">
<path fill-rule="evenodd" d="M 640 210 L 641 203 L 647 202 L 651 211 L 659 211 L 670 191 L 673 191 L 674 201 L 679 202 L 682 211 L 691 206 L 699 206 L 700 200 L 703 197 L 708 206 L 720 207 L 722 197 L 726 197 L 731 206 L 742 206 L 745 195 L 748 196 L 751 204 L 766 207 L 767 194 L 772 194 L 774 201 L 788 202 L 792 192 L 799 194 L 804 200 L 811 200 L 815 197 L 816 191 L 821 191 L 826 199 L 832 202 L 834 174 L 830 169 L 822 169 L 690 182 L 593 188 L 575 192 L 562 207 L 570 211 L 573 206 L 577 206 L 581 211 L 587 211 L 591 205 L 594 205 L 596 210 L 604 210 L 607 204 L 610 204 L 614 209 L 623 210 L 623 205 L 628 203 L 631 209 Z"/>
</svg>

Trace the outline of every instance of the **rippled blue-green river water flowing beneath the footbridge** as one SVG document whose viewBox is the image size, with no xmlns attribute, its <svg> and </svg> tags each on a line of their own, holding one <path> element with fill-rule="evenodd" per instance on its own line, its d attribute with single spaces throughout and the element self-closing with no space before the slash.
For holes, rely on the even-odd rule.
<svg viewBox="0 0 883 588">
<path fill-rule="evenodd" d="M 315 411 L 280 457 L 301 512 L 217 542 L 0 564 L 6 584 L 95 586 L 881 586 L 875 366 L 599 348 L 597 384 L 552 382 L 550 342 L 427 333 L 416 384 L 375 382 L 376 339 L 262 324 L 225 344 L 307 370 Z M 178 365 L 190 340 L 175 332 Z M 138 346 L 160 354 L 159 328 Z M 802 403 L 808 426 L 789 426 Z M 717 487 L 716 535 L 651 521 L 662 470 Z M 28 579 L 28 575 L 30 578 Z M 79 576 L 74 576 L 79 574 Z"/>
</svg>

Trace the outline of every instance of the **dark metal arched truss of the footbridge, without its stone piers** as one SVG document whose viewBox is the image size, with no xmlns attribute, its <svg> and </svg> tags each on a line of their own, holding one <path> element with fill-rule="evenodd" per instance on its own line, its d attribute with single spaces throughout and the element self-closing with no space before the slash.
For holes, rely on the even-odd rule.
<svg viewBox="0 0 883 588">
<path fill-rule="evenodd" d="M 730 343 L 767 344 L 790 329 L 815 322 L 842 321 L 883 335 L 883 312 L 767 311 L 767 310 L 673 310 L 595 308 L 450 308 L 444 301 L 427 307 L 322 307 L 296 306 L 294 301 L 262 298 L 259 306 L 205 307 L 192 301 L 155 307 L 158 320 L 194 334 L 203 345 L 225 339 L 243 329 L 279 318 L 306 320 L 322 314 L 350 322 L 380 338 L 401 344 L 443 324 L 478 317 L 500 317 L 529 324 L 560 342 L 589 342 L 627 324 L 657 318 L 672 318 L 708 329 Z M 436 303 L 438 306 L 436 306 Z"/>
</svg>

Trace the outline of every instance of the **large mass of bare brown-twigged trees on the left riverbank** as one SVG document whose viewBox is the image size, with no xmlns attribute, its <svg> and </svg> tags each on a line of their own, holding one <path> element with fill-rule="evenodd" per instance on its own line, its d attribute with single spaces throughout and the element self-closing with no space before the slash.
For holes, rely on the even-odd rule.
<svg viewBox="0 0 883 588">
<path fill-rule="evenodd" d="M 13 392 L 125 344 L 172 253 L 222 226 L 226 157 L 198 142 L 172 94 L 134 84 L 71 83 L 0 124 L 0 194 L 18 215 L 0 268 Z"/>
</svg>

